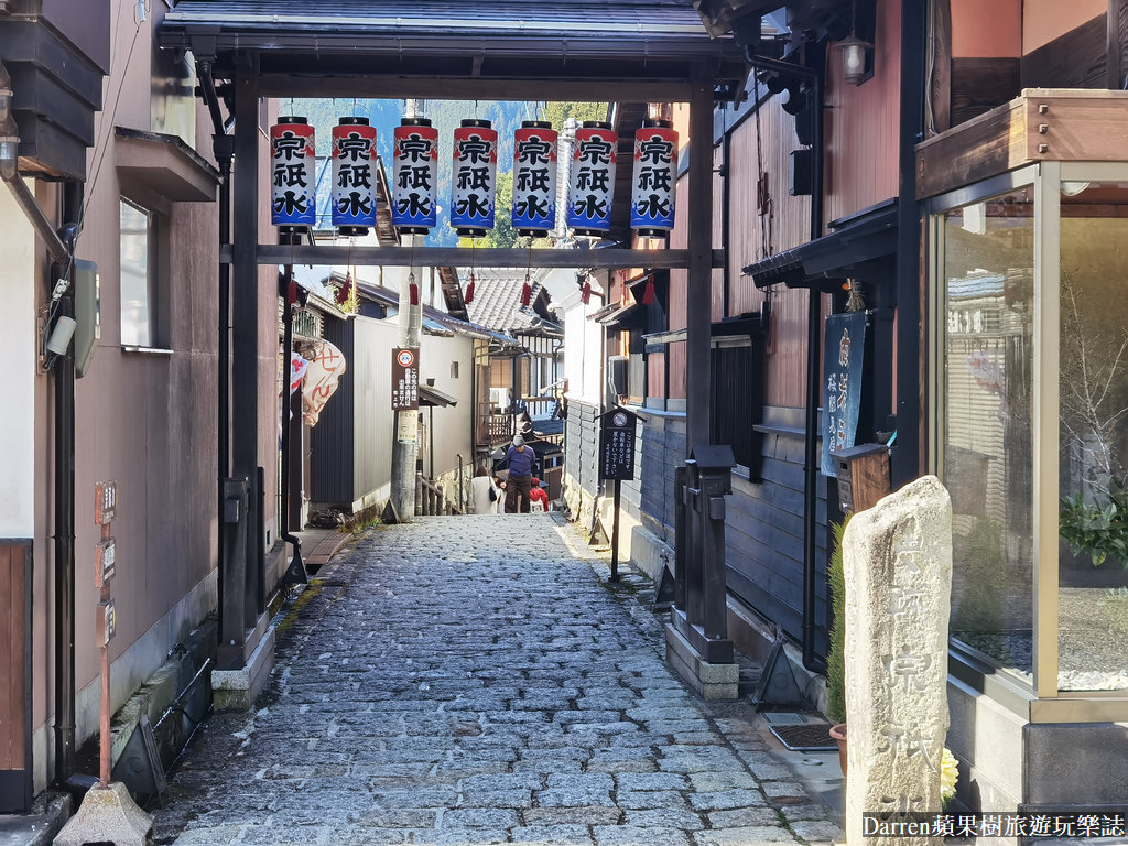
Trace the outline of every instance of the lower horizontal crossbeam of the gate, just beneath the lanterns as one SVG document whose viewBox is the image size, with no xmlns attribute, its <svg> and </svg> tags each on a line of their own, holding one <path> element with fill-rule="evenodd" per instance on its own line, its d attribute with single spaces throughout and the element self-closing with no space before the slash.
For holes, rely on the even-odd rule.
<svg viewBox="0 0 1128 846">
<path fill-rule="evenodd" d="M 231 262 L 230 247 L 220 248 L 220 261 Z M 686 268 L 687 249 L 500 249 L 477 248 L 473 253 L 477 267 L 646 267 L 649 270 Z M 714 267 L 724 267 L 724 250 L 711 254 Z M 364 267 L 466 267 L 470 264 L 467 247 L 349 247 L 347 245 L 288 246 L 259 244 L 258 264 L 312 264 Z"/>
</svg>

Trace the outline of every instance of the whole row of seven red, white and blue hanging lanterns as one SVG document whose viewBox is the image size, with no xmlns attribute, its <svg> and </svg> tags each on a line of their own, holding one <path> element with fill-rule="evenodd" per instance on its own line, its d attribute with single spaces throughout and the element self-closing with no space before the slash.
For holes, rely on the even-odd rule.
<svg viewBox="0 0 1128 846">
<path fill-rule="evenodd" d="M 425 235 L 437 226 L 439 132 L 424 117 L 395 129 L 391 222 Z M 494 227 L 497 131 L 466 120 L 455 130 L 450 226 L 481 237 Z M 518 235 L 543 237 L 556 223 L 557 133 L 544 121 L 525 121 L 513 139 L 512 224 Z M 570 168 L 567 226 L 600 237 L 611 228 L 618 135 L 609 123 L 587 121 L 575 132 Z M 280 117 L 271 127 L 271 221 L 282 232 L 316 223 L 314 127 L 305 117 Z M 376 129 L 367 117 L 342 117 L 333 127 L 332 220 L 341 235 L 376 226 Z M 631 227 L 661 237 L 673 229 L 678 133 L 669 121 L 646 118 L 635 133 Z"/>
</svg>

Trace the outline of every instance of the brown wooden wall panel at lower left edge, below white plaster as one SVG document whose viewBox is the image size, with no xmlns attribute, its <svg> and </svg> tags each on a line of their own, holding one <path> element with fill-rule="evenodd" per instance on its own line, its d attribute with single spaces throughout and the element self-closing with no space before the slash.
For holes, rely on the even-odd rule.
<svg viewBox="0 0 1128 846">
<path fill-rule="evenodd" d="M 0 539 L 0 813 L 32 803 L 32 541 Z"/>
</svg>

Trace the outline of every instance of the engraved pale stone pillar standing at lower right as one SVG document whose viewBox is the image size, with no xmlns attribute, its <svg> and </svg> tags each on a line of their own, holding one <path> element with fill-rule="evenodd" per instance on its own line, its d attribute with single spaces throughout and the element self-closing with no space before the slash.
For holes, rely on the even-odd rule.
<svg viewBox="0 0 1128 846">
<path fill-rule="evenodd" d="M 849 846 L 942 844 L 866 837 L 863 813 L 941 810 L 948 735 L 948 614 L 952 508 L 925 476 L 854 515 L 846 575 L 846 840 Z"/>
</svg>

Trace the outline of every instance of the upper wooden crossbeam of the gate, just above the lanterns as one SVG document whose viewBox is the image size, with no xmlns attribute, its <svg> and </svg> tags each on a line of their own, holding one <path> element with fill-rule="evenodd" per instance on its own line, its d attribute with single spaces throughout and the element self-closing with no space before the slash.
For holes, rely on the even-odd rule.
<svg viewBox="0 0 1128 846">
<path fill-rule="evenodd" d="M 411 77 L 381 73 L 317 77 L 263 73 L 264 97 L 362 97 L 377 99 L 538 100 L 592 103 L 684 103 L 685 79 L 491 79 L 488 77 Z"/>
</svg>

